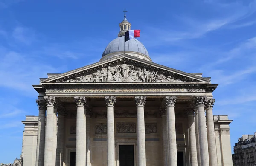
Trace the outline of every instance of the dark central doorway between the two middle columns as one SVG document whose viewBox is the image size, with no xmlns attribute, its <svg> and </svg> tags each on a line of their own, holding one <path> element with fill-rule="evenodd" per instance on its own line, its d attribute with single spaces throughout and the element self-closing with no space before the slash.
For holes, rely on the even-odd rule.
<svg viewBox="0 0 256 166">
<path fill-rule="evenodd" d="M 133 145 L 119 146 L 120 166 L 134 166 L 134 147 Z"/>
</svg>

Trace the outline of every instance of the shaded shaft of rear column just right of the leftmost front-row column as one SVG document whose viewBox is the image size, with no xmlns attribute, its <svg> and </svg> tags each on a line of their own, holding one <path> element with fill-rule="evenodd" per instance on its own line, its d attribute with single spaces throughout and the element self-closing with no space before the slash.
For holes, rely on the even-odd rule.
<svg viewBox="0 0 256 166">
<path fill-rule="evenodd" d="M 56 166 L 63 166 L 64 152 L 64 116 L 58 114 Z"/>
</svg>

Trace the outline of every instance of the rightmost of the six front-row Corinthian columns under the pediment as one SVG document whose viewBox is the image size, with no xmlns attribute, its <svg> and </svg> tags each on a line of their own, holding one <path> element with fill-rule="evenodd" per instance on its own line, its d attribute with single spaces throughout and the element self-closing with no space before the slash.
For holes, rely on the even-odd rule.
<svg viewBox="0 0 256 166">
<path fill-rule="evenodd" d="M 204 101 L 206 96 L 195 96 L 196 106 L 198 108 L 198 132 L 200 145 L 201 166 L 209 166 L 209 153 L 207 143 L 207 132 L 205 124 Z"/>
</svg>

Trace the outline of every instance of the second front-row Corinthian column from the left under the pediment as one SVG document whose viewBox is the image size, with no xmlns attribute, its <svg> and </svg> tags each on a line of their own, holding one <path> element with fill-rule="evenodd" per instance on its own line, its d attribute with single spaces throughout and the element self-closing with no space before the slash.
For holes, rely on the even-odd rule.
<svg viewBox="0 0 256 166">
<path fill-rule="evenodd" d="M 85 137 L 84 137 L 84 106 L 86 98 L 84 96 L 75 96 L 76 101 L 76 166 L 85 165 Z"/>
</svg>

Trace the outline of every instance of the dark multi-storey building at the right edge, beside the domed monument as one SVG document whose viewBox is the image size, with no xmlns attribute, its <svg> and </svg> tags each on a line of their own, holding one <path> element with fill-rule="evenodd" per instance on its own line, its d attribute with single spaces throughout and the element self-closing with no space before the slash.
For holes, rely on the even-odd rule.
<svg viewBox="0 0 256 166">
<path fill-rule="evenodd" d="M 242 135 L 234 146 L 233 163 L 235 166 L 255 166 L 256 132 L 254 135 Z"/>
</svg>

